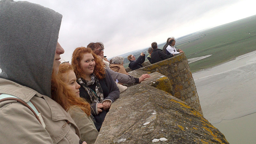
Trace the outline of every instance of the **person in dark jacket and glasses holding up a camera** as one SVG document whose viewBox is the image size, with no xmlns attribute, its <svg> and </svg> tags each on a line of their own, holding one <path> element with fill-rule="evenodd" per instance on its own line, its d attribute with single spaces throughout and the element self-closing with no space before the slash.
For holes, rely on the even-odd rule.
<svg viewBox="0 0 256 144">
<path fill-rule="evenodd" d="M 138 68 L 142 68 L 141 64 L 145 61 L 145 54 L 141 52 L 138 60 L 136 60 L 136 58 L 130 54 L 128 55 L 127 59 L 130 61 L 128 67 L 131 68 L 132 70 L 135 70 Z"/>
</svg>

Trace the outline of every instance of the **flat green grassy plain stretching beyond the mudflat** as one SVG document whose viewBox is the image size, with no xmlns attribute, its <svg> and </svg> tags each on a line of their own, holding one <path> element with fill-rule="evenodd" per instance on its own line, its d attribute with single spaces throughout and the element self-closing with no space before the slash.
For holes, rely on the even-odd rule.
<svg viewBox="0 0 256 144">
<path fill-rule="evenodd" d="M 187 59 L 212 54 L 210 57 L 190 63 L 191 72 L 218 65 L 256 50 L 256 15 L 201 32 L 206 36 L 177 46 L 177 49 L 185 51 Z"/>
</svg>

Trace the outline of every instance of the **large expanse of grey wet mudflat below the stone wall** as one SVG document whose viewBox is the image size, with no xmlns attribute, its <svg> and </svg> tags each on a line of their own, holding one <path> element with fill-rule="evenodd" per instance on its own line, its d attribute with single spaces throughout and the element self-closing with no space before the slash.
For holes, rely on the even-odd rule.
<svg viewBox="0 0 256 144">
<path fill-rule="evenodd" d="M 237 138 L 247 143 L 246 140 L 253 138 L 251 134 L 256 137 L 256 116 L 252 114 L 256 112 L 255 69 L 256 51 L 253 51 L 192 74 L 204 117 L 235 143 L 240 143 Z M 248 125 L 248 129 L 242 131 L 239 125 Z"/>
</svg>

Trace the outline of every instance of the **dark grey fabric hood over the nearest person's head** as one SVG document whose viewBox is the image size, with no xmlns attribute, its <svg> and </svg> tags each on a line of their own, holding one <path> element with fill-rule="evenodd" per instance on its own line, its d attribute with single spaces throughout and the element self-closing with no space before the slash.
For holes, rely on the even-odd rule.
<svg viewBox="0 0 256 144">
<path fill-rule="evenodd" d="M 62 15 L 39 4 L 0 1 L 0 77 L 51 97 Z"/>
</svg>

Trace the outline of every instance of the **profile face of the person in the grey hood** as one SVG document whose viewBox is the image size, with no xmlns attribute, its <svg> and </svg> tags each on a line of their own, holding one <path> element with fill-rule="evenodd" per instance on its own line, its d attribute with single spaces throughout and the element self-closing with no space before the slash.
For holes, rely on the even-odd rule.
<svg viewBox="0 0 256 144">
<path fill-rule="evenodd" d="M 52 67 L 52 70 L 56 75 L 58 74 L 59 66 L 61 63 L 60 55 L 63 54 L 64 52 L 65 52 L 64 49 L 60 46 L 59 42 L 57 42 L 56 51 L 55 51 L 54 60 L 53 60 L 53 67 Z"/>
</svg>

